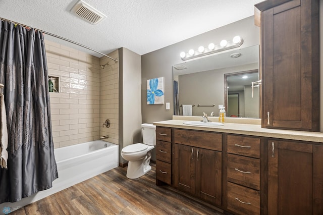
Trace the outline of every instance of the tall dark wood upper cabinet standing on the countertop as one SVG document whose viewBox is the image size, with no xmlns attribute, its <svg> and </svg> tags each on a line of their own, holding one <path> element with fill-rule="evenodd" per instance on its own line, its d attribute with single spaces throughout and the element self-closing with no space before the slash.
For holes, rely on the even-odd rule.
<svg viewBox="0 0 323 215">
<path fill-rule="evenodd" d="M 319 131 L 318 2 L 255 5 L 261 11 L 263 128 Z"/>
</svg>

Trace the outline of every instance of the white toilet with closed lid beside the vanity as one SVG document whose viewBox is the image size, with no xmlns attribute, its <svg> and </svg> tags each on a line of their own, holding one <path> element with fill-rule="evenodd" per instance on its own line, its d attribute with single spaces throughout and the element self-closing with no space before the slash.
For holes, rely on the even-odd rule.
<svg viewBox="0 0 323 215">
<path fill-rule="evenodd" d="M 151 170 L 151 152 L 156 145 L 156 126 L 141 124 L 143 143 L 134 143 L 121 150 L 121 156 L 128 160 L 127 178 L 136 179 Z"/>
</svg>

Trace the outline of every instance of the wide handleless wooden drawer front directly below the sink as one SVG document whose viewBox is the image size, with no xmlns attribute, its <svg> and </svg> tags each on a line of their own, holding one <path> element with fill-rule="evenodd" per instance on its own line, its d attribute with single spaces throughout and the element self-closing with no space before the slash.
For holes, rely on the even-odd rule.
<svg viewBox="0 0 323 215">
<path fill-rule="evenodd" d="M 174 142 L 222 151 L 222 134 L 219 133 L 174 129 Z"/>
</svg>

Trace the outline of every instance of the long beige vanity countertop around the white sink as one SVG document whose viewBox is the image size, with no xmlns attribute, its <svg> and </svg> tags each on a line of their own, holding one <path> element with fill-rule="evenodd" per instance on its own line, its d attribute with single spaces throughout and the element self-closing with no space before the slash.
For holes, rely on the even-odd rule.
<svg viewBox="0 0 323 215">
<path fill-rule="evenodd" d="M 198 118 L 199 119 L 199 118 Z M 323 143 L 323 133 L 320 132 L 307 132 L 307 131 L 292 131 L 292 130 L 280 130 L 280 129 L 267 129 L 261 128 L 261 125 L 256 124 L 244 124 L 243 123 L 225 123 L 224 126 L 192 126 L 183 124 L 187 121 L 199 121 L 194 118 L 173 118 L 173 120 L 154 122 L 156 126 L 171 127 L 171 128 L 183 128 L 193 129 L 200 131 L 215 131 L 231 134 L 244 134 L 262 137 L 273 137 L 291 140 L 302 140 L 311 142 Z M 212 120 L 213 121 L 213 120 Z M 214 120 L 213 122 L 217 122 Z"/>
</svg>

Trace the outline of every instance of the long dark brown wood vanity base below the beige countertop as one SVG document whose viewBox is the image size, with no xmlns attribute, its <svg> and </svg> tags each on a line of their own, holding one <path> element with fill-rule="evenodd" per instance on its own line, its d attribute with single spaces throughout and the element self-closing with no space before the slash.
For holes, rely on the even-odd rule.
<svg viewBox="0 0 323 215">
<path fill-rule="evenodd" d="M 158 126 L 156 138 L 157 185 L 234 214 L 323 214 L 322 143 Z"/>
</svg>

